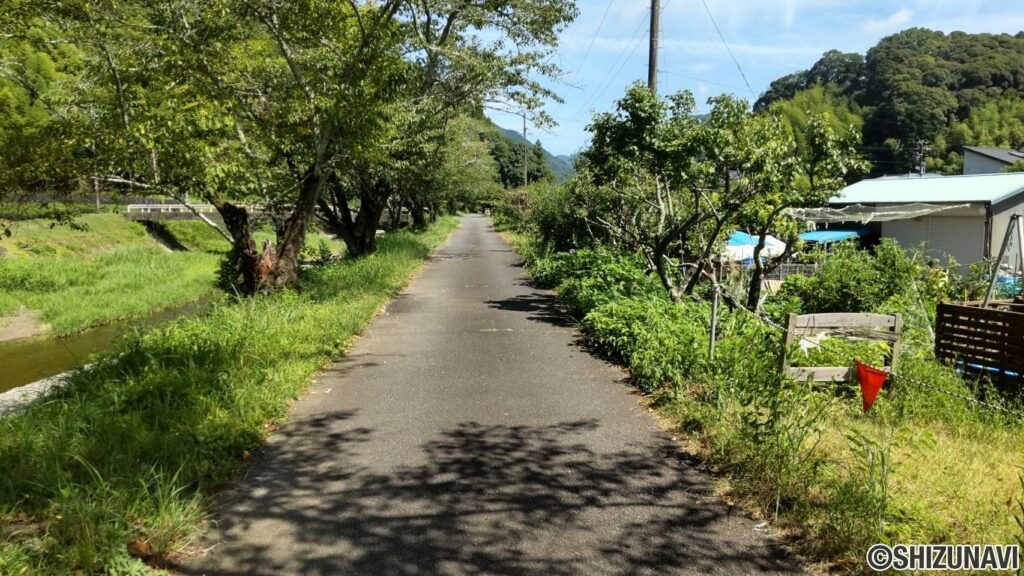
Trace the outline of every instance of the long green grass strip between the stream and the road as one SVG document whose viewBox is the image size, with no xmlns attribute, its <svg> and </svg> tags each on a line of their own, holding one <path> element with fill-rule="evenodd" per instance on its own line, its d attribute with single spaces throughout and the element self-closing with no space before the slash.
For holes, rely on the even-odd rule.
<svg viewBox="0 0 1024 576">
<path fill-rule="evenodd" d="M 344 349 L 455 228 L 306 272 L 301 291 L 217 305 L 123 340 L 0 419 L 0 573 L 144 573 L 201 526 L 267 422 Z"/>
</svg>

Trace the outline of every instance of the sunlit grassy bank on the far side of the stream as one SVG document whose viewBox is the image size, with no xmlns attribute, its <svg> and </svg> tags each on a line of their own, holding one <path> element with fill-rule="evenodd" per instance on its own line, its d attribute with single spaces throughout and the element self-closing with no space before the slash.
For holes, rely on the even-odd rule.
<svg viewBox="0 0 1024 576">
<path fill-rule="evenodd" d="M 170 252 L 119 214 L 12 227 L 0 240 L 0 326 L 28 314 L 43 333 L 63 336 L 214 293 L 219 255 Z"/>
</svg>

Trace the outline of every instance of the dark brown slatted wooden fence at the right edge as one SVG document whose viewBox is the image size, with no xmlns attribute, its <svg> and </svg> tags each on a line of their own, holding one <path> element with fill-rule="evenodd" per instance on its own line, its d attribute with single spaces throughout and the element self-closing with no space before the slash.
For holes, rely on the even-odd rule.
<svg viewBox="0 0 1024 576">
<path fill-rule="evenodd" d="M 935 356 L 972 377 L 987 377 L 1002 392 L 1024 392 L 1024 302 L 940 303 Z"/>
</svg>

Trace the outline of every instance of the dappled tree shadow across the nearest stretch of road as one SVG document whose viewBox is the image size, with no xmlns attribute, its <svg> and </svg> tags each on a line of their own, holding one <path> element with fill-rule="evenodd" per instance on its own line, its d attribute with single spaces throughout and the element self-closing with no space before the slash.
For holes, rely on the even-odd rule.
<svg viewBox="0 0 1024 576">
<path fill-rule="evenodd" d="M 346 424 L 331 417 L 303 422 L 287 444 L 271 447 L 261 470 L 224 508 L 223 541 L 212 557 L 178 570 L 399 576 L 791 571 L 750 521 L 717 502 L 703 477 L 667 441 L 602 453 L 592 446 L 608 433 L 595 420 L 464 422 L 416 455 L 397 457 L 379 452 L 378 433 Z M 239 540 L 240 533 L 249 540 Z"/>
</svg>

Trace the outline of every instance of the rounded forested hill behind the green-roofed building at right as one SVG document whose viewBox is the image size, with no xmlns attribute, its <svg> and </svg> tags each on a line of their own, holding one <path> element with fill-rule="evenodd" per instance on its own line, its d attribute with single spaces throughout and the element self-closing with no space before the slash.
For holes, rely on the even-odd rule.
<svg viewBox="0 0 1024 576">
<path fill-rule="evenodd" d="M 866 54 L 825 52 L 810 70 L 771 83 L 756 110 L 808 112 L 863 130 L 873 172 L 959 173 L 964 146 L 1024 147 L 1024 32 L 944 34 L 910 29 Z M 799 130 L 798 130 L 799 132 Z"/>
</svg>

